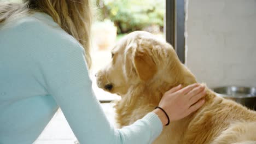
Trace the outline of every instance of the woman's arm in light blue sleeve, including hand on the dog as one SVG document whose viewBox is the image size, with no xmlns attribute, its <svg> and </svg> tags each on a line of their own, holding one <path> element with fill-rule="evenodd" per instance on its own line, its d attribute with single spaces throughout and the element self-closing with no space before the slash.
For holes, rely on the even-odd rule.
<svg viewBox="0 0 256 144">
<path fill-rule="evenodd" d="M 166 115 L 159 109 L 122 129 L 110 125 L 100 103 L 92 93 L 83 48 L 65 43 L 59 53 L 51 52 L 42 70 L 46 88 L 60 105 L 69 125 L 80 143 L 152 143 L 167 123 Z M 159 106 L 170 121 L 181 119 L 197 110 L 202 104 L 203 87 L 198 84 L 182 86 L 166 92 Z M 193 98 L 193 100 L 188 100 Z M 196 103 L 196 104 L 195 104 Z"/>
</svg>

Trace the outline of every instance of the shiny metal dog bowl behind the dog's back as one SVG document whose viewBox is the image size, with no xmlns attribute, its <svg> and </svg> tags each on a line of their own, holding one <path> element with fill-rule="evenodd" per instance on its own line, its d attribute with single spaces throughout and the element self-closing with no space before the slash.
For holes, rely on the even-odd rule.
<svg viewBox="0 0 256 144">
<path fill-rule="evenodd" d="M 256 88 L 254 87 L 216 87 L 213 91 L 220 97 L 234 100 L 249 109 L 256 110 Z"/>
</svg>

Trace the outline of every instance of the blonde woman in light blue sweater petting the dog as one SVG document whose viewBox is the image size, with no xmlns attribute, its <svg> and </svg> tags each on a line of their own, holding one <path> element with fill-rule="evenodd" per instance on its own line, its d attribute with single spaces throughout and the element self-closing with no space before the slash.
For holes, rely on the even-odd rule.
<svg viewBox="0 0 256 144">
<path fill-rule="evenodd" d="M 0 143 L 33 143 L 58 107 L 80 143 L 151 143 L 164 125 L 204 103 L 202 86 L 178 86 L 164 94 L 162 109 L 115 129 L 92 94 L 86 68 L 90 2 L 25 2 L 0 5 Z"/>
</svg>

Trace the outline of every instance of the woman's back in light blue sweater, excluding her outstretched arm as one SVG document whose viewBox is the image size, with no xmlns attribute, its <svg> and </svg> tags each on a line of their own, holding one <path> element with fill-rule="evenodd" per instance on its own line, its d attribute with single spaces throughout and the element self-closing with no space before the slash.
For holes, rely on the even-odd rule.
<svg viewBox="0 0 256 144">
<path fill-rule="evenodd" d="M 53 55 L 72 51 L 62 47 L 72 39 L 42 13 L 0 25 L 0 143 L 32 143 L 53 117 L 58 106 L 44 68 Z"/>
</svg>

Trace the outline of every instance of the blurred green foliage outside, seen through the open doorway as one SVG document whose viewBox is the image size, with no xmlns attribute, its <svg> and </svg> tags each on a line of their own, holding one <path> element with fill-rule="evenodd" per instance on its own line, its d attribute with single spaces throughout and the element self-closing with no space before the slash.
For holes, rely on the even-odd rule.
<svg viewBox="0 0 256 144">
<path fill-rule="evenodd" d="M 110 19 L 118 33 L 164 25 L 165 0 L 97 0 L 100 19 Z"/>
</svg>

